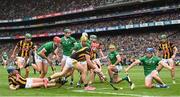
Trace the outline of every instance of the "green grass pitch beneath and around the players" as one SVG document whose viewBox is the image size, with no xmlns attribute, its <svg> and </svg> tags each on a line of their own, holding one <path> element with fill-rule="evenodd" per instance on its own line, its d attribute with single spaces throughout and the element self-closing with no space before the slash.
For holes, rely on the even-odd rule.
<svg viewBox="0 0 180 97">
<path fill-rule="evenodd" d="M 57 67 L 59 70 L 59 67 Z M 107 75 L 107 67 L 103 67 L 104 73 Z M 51 70 L 49 69 L 50 75 Z M 122 87 L 117 91 L 113 90 L 111 86 L 106 83 L 100 83 L 98 77 L 93 86 L 96 86 L 95 91 L 84 91 L 81 88 L 70 87 L 69 83 L 59 87 L 52 87 L 48 89 L 36 88 L 36 89 L 19 89 L 17 91 L 11 91 L 8 88 L 7 72 L 2 66 L 0 66 L 0 97 L 1 96 L 180 96 L 180 67 L 176 67 L 176 85 L 172 84 L 170 72 L 163 69 L 160 73 L 163 81 L 167 83 L 170 88 L 168 89 L 146 89 L 144 87 L 144 75 L 141 66 L 136 66 L 130 72 L 132 81 L 136 84 L 134 90 L 130 90 L 126 82 L 116 84 L 116 87 Z M 30 74 L 31 77 L 38 77 L 39 74 Z M 120 76 L 125 76 L 121 72 Z M 75 83 L 78 81 L 79 74 L 75 73 Z"/>
</svg>

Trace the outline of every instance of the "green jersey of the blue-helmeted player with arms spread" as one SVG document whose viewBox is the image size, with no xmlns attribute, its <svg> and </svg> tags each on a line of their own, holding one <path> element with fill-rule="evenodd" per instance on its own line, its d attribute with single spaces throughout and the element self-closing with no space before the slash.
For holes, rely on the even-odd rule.
<svg viewBox="0 0 180 97">
<path fill-rule="evenodd" d="M 159 57 L 153 56 L 148 58 L 147 56 L 141 57 L 139 59 L 144 67 L 144 75 L 149 75 L 153 70 L 156 70 L 156 67 L 161 60 Z"/>
</svg>

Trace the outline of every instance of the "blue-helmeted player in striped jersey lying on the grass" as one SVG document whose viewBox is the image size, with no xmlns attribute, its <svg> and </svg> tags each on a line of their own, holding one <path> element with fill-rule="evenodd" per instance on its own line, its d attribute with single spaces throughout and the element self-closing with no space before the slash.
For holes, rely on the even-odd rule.
<svg viewBox="0 0 180 97">
<path fill-rule="evenodd" d="M 47 78 L 23 78 L 13 66 L 7 68 L 9 88 L 17 90 L 20 88 L 38 88 L 56 86 L 55 80 L 48 82 Z"/>
</svg>

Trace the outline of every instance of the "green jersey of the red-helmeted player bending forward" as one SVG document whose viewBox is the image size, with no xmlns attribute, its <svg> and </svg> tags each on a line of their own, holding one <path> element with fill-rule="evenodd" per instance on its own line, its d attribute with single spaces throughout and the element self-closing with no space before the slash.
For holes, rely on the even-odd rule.
<svg viewBox="0 0 180 97">
<path fill-rule="evenodd" d="M 45 55 L 48 56 L 50 53 L 54 52 L 54 50 L 57 47 L 54 45 L 53 41 L 47 42 L 45 44 L 43 44 L 38 50 L 37 50 L 37 54 L 39 55 L 39 53 L 41 52 L 41 50 L 45 49 Z"/>
</svg>

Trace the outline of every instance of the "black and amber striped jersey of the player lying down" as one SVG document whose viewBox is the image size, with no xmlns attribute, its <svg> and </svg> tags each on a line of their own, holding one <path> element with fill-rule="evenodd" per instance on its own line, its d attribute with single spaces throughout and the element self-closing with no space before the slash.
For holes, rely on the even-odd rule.
<svg viewBox="0 0 180 97">
<path fill-rule="evenodd" d="M 26 79 L 22 76 L 19 76 L 19 79 L 15 75 L 8 76 L 9 85 L 20 85 L 20 88 L 25 88 L 26 86 Z"/>
</svg>

